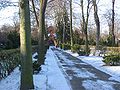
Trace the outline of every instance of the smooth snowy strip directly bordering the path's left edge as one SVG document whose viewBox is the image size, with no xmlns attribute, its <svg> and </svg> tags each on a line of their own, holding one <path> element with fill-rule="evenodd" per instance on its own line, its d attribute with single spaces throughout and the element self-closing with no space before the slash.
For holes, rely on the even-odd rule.
<svg viewBox="0 0 120 90">
<path fill-rule="evenodd" d="M 48 63 L 47 76 L 49 90 L 70 90 L 70 86 L 67 84 L 64 75 L 57 65 L 57 58 L 55 58 L 53 51 L 49 49 L 47 55 L 49 55 L 49 58 L 46 58 Z"/>
</svg>

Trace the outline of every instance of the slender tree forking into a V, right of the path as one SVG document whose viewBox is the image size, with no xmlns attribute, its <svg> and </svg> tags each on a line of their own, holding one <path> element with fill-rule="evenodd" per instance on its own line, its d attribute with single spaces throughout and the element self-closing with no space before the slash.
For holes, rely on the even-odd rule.
<svg viewBox="0 0 120 90">
<path fill-rule="evenodd" d="M 81 9 L 82 9 L 82 29 L 84 31 L 84 35 L 85 35 L 85 52 L 86 52 L 86 55 L 88 55 L 88 33 L 87 33 L 87 29 L 88 29 L 88 18 L 89 18 L 89 5 L 90 5 L 90 0 L 87 0 L 88 1 L 88 5 L 87 5 L 87 17 L 85 19 L 85 16 L 84 16 L 84 6 L 83 6 L 83 0 L 81 0 Z"/>
</svg>

